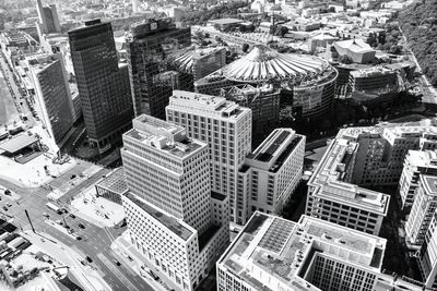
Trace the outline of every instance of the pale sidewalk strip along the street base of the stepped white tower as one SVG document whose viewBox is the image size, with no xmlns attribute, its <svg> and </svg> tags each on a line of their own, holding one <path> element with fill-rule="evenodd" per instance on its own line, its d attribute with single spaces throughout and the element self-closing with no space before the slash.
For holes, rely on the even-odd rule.
<svg viewBox="0 0 437 291">
<path fill-rule="evenodd" d="M 155 281 L 152 276 L 145 269 L 141 268 L 144 266 L 145 257 L 142 256 L 130 243 L 129 238 L 127 237 L 128 231 L 123 232 L 120 237 L 118 237 L 110 247 L 113 248 L 115 255 L 120 260 L 121 264 L 131 268 L 135 274 L 138 274 L 143 280 L 153 287 L 154 290 L 157 291 L 167 291 L 170 288 L 164 286 L 162 282 Z M 128 258 L 128 256 L 131 257 Z"/>
</svg>

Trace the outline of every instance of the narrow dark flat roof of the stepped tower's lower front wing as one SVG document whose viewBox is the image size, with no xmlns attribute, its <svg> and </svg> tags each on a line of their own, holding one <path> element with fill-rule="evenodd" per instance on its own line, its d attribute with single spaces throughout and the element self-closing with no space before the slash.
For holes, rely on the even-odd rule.
<svg viewBox="0 0 437 291">
<path fill-rule="evenodd" d="M 125 196 L 160 221 L 164 227 L 177 234 L 180 239 L 187 241 L 192 234 L 194 234 L 194 232 L 185 227 L 178 219 L 160 211 L 157 208 L 146 204 L 130 192 L 126 193 Z"/>
</svg>

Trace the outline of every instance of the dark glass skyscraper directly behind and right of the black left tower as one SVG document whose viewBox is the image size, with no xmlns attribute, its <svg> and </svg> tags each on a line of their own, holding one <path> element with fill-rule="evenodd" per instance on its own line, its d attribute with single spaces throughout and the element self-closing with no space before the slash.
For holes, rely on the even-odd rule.
<svg viewBox="0 0 437 291">
<path fill-rule="evenodd" d="M 128 62 L 135 116 L 165 119 L 174 89 L 192 90 L 191 72 L 175 59 L 191 47 L 191 28 L 176 28 L 170 19 L 147 20 L 131 25 Z"/>
</svg>

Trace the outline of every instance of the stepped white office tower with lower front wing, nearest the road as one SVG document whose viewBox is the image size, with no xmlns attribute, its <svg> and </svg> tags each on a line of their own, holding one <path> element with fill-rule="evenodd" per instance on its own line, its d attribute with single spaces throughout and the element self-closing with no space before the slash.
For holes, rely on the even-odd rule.
<svg viewBox="0 0 437 291">
<path fill-rule="evenodd" d="M 175 290 L 194 290 L 229 241 L 226 197 L 211 193 L 206 144 L 143 114 L 123 134 L 121 157 L 133 246 Z"/>
</svg>

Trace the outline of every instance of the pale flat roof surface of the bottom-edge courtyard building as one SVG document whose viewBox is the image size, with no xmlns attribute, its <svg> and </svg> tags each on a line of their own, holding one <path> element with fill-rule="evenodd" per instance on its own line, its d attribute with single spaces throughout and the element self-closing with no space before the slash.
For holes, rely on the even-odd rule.
<svg viewBox="0 0 437 291">
<path fill-rule="evenodd" d="M 385 239 L 324 220 L 302 216 L 299 222 L 293 222 L 257 211 L 218 265 L 256 290 L 269 290 L 257 279 L 264 276 L 275 277 L 292 290 L 296 286 L 297 290 L 318 290 L 305 280 L 314 256 L 323 254 L 378 271 L 385 248 Z M 252 265 L 262 274 L 253 274 Z"/>
</svg>

